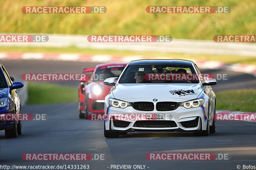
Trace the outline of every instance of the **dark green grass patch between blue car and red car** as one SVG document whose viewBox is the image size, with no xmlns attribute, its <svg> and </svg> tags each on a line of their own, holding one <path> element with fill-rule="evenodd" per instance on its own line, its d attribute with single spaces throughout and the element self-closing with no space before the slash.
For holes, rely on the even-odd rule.
<svg viewBox="0 0 256 170">
<path fill-rule="evenodd" d="M 76 102 L 77 98 L 77 87 L 75 86 L 28 83 L 27 104 Z"/>
</svg>

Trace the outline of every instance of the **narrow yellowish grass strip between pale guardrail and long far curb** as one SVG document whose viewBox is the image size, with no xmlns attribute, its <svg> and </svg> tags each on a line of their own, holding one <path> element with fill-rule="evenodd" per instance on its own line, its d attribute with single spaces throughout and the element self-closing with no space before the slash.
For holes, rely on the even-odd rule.
<svg viewBox="0 0 256 170">
<path fill-rule="evenodd" d="M 144 52 L 130 50 L 113 50 L 113 49 L 92 49 L 92 48 L 77 48 L 70 46 L 67 48 L 51 48 L 51 47 L 0 47 L 0 52 L 8 53 L 78 53 L 88 55 L 141 55 L 166 57 L 172 59 L 189 59 L 189 60 L 214 60 L 223 63 L 243 63 L 255 64 L 255 57 L 241 57 L 234 55 L 206 55 L 206 54 L 183 54 L 183 53 L 163 53 L 163 52 Z"/>
</svg>

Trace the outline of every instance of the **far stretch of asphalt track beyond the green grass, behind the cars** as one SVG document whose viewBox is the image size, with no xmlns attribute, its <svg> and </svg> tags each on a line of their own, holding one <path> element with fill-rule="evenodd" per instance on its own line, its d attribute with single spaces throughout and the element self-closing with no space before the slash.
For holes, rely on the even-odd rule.
<svg viewBox="0 0 256 170">
<path fill-rule="evenodd" d="M 71 62 L 71 61 L 45 61 L 45 60 L 3 60 L 6 70 L 10 76 L 20 78 L 25 73 L 82 73 L 83 68 L 95 67 L 99 63 L 92 62 Z M 200 65 L 198 65 L 200 69 Z M 243 88 L 255 88 L 256 78 L 247 73 L 241 73 L 229 70 L 206 70 L 200 69 L 201 73 L 227 74 L 228 80 L 217 80 L 218 84 L 212 86 L 214 92 L 222 90 L 232 90 Z M 35 82 L 35 81 L 34 81 Z M 63 85 L 78 86 L 76 81 L 52 81 Z"/>
</svg>

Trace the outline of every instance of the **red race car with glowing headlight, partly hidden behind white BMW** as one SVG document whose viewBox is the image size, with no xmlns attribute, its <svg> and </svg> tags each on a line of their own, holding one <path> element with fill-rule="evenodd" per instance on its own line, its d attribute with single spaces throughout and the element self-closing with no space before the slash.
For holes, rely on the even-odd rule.
<svg viewBox="0 0 256 170">
<path fill-rule="evenodd" d="M 104 114 L 104 100 L 111 86 L 103 84 L 106 78 L 119 77 L 127 63 L 105 63 L 95 68 L 85 68 L 83 73 L 91 76 L 80 79 L 78 85 L 79 118 L 91 119 L 91 114 Z"/>
</svg>

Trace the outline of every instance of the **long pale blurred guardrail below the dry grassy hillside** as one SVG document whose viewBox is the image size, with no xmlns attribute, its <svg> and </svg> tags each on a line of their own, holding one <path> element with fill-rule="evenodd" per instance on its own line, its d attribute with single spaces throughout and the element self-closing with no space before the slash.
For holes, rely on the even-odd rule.
<svg viewBox="0 0 256 170">
<path fill-rule="evenodd" d="M 0 35 L 15 33 L 0 33 Z M 17 33 L 16 33 L 17 34 Z M 23 35 L 28 35 L 24 34 Z M 32 34 L 34 35 L 34 34 Z M 40 34 L 42 35 L 42 33 Z M 0 46 L 68 47 L 256 57 L 256 43 L 173 39 L 172 42 L 89 42 L 86 35 L 47 34 L 47 42 L 1 42 Z"/>
</svg>

